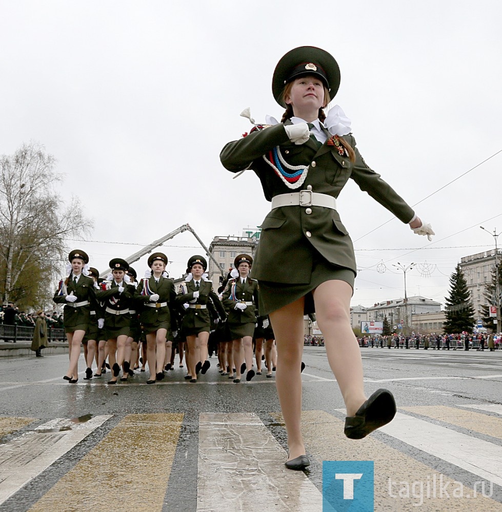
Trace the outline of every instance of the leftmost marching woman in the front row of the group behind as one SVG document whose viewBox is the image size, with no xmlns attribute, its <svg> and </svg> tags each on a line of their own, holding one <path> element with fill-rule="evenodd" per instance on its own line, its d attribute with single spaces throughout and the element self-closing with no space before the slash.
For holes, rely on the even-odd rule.
<svg viewBox="0 0 502 512">
<path fill-rule="evenodd" d="M 54 294 L 56 304 L 65 304 L 64 326 L 70 352 L 70 366 L 63 377 L 71 384 L 78 380 L 78 358 L 82 349 L 82 340 L 88 329 L 90 302 L 94 300 L 94 281 L 82 271 L 89 263 L 88 255 L 79 249 L 68 254 L 71 264 L 70 275 L 59 282 Z M 87 271 L 87 269 L 86 269 Z"/>
</svg>

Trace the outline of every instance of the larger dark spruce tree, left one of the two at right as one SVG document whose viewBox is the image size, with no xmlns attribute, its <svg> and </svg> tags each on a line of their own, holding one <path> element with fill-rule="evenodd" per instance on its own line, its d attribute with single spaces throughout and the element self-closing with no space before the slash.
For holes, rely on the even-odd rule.
<svg viewBox="0 0 502 512">
<path fill-rule="evenodd" d="M 474 307 L 464 273 L 457 265 L 450 277 L 450 296 L 446 298 L 445 333 L 472 332 L 475 324 Z"/>
</svg>

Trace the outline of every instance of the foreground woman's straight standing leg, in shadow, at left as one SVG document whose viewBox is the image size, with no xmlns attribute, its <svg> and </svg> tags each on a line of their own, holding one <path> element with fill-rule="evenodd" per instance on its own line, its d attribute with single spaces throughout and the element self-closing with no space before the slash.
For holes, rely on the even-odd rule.
<svg viewBox="0 0 502 512">
<path fill-rule="evenodd" d="M 288 433 L 288 460 L 305 455 L 302 437 L 302 376 L 304 299 L 270 313 L 277 344 L 275 385 Z"/>
</svg>

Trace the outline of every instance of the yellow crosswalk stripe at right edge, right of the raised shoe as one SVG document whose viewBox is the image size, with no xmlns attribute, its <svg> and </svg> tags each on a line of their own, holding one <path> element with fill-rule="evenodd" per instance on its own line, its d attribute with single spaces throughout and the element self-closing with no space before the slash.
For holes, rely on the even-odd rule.
<svg viewBox="0 0 502 512">
<path fill-rule="evenodd" d="M 447 406 L 416 406 L 401 407 L 400 409 L 502 439 L 502 421 L 494 416 Z"/>
</svg>

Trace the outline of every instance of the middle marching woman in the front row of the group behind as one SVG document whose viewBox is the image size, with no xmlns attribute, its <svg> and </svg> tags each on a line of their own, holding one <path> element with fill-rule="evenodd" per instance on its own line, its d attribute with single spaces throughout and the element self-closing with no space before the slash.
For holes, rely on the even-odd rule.
<svg viewBox="0 0 502 512">
<path fill-rule="evenodd" d="M 144 309 L 139 315 L 147 338 L 147 360 L 150 378 L 147 384 L 154 384 L 164 378 L 167 333 L 171 329 L 170 308 L 175 307 L 176 292 L 172 279 L 164 277 L 167 256 L 155 252 L 148 258 L 150 270 L 136 289 L 137 302 Z M 166 274 L 167 275 L 167 274 Z M 144 364 L 144 363 L 143 363 Z"/>
</svg>

